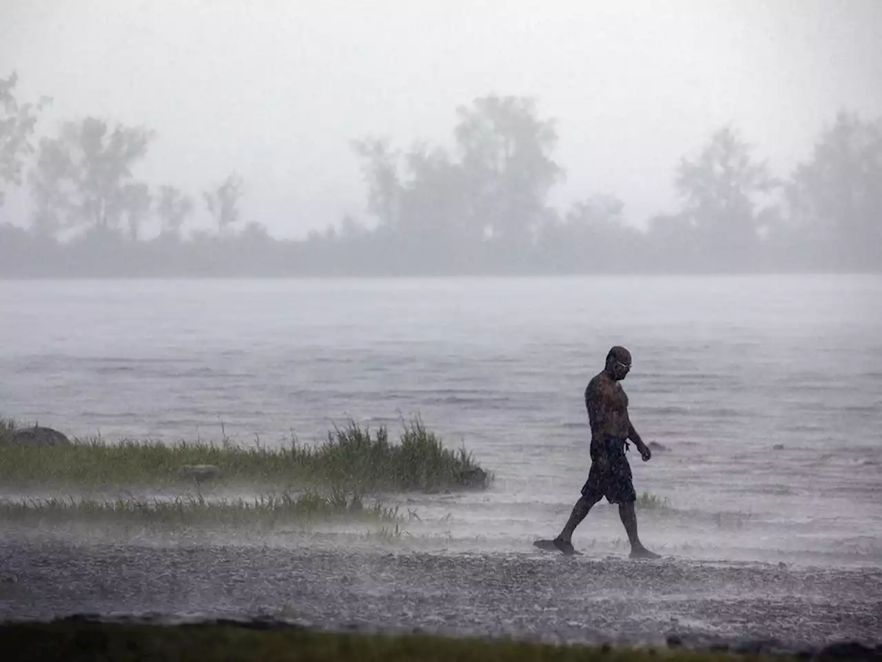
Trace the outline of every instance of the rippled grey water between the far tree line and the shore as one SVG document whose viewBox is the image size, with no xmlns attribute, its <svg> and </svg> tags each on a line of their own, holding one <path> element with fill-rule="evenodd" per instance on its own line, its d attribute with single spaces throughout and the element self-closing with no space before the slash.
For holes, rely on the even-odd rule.
<svg viewBox="0 0 882 662">
<path fill-rule="evenodd" d="M 663 552 L 882 564 L 882 278 L 0 282 L 0 406 L 161 440 L 320 440 L 419 414 L 495 474 L 399 497 L 426 536 L 523 550 L 587 476 L 582 392 L 624 344 L 645 440 L 640 515 Z M 775 445 L 783 449 L 774 449 Z M 624 549 L 617 512 L 574 537 Z"/>
</svg>

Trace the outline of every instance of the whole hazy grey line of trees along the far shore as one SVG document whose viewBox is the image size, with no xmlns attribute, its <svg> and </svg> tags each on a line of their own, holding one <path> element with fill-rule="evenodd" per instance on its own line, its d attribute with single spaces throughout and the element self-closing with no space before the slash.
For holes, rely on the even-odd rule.
<svg viewBox="0 0 882 662">
<path fill-rule="evenodd" d="M 96 117 L 35 139 L 47 99 L 19 103 L 0 79 L 0 207 L 27 186 L 25 227 L 0 223 L 3 276 L 448 275 L 878 272 L 882 267 L 882 120 L 842 110 L 789 177 L 776 177 L 731 126 L 683 157 L 675 214 L 639 230 L 623 203 L 594 194 L 564 213 L 549 192 L 555 122 L 526 97 L 489 95 L 457 109 L 453 147 L 352 142 L 368 224 L 345 217 L 303 240 L 242 222 L 235 172 L 194 199 L 138 179 L 156 135 Z M 34 144 L 35 143 L 35 144 Z M 216 230 L 183 229 L 204 204 Z M 147 238 L 148 220 L 158 236 Z"/>
</svg>

